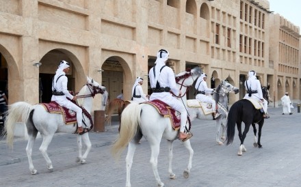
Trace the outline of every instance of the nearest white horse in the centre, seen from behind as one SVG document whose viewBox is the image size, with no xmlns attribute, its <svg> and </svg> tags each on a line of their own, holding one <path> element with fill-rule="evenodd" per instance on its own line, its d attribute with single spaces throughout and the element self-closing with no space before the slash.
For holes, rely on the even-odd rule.
<svg viewBox="0 0 301 187">
<path fill-rule="evenodd" d="M 180 74 L 176 75 L 176 82 L 180 85 L 179 87 L 182 93 L 187 92 L 187 87 L 191 86 L 194 83 L 198 76 L 200 76 L 201 72 L 202 71 L 200 70 L 200 68 L 196 67 L 190 72 L 181 72 Z M 185 97 L 183 97 L 183 100 L 186 101 Z M 172 172 L 172 143 L 177 139 L 178 133 L 179 131 L 176 131 L 172 128 L 170 119 L 168 117 L 161 116 L 157 112 L 157 110 L 150 104 L 136 104 L 135 102 L 131 102 L 131 104 L 125 107 L 125 110 L 122 112 L 121 117 L 120 134 L 117 141 L 112 147 L 112 153 L 118 158 L 122 150 L 125 149 L 127 145 L 129 145 L 126 158 L 126 186 L 131 186 L 130 171 L 131 165 L 133 163 L 133 155 L 135 153 L 136 146 L 138 145 L 138 142 L 140 141 L 142 136 L 144 136 L 150 144 L 150 163 L 153 167 L 157 185 L 164 186 L 163 182 L 161 182 L 157 170 L 161 139 L 166 139 L 168 142 L 168 172 L 171 179 L 175 178 L 175 174 Z M 187 169 L 184 171 L 184 177 L 189 177 L 189 172 L 192 168 L 192 156 L 194 154 L 194 151 L 190 145 L 189 140 L 184 141 L 183 145 L 188 149 L 189 152 L 189 162 Z"/>
</svg>

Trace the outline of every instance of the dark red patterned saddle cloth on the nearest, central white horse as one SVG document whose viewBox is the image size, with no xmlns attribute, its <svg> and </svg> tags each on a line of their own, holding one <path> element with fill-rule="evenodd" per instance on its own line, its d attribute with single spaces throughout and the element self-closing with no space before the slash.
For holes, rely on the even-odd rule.
<svg viewBox="0 0 301 187">
<path fill-rule="evenodd" d="M 148 102 L 144 102 L 145 104 L 150 104 L 157 109 L 158 113 L 163 115 L 163 117 L 169 117 L 170 123 L 172 124 L 172 128 L 174 130 L 178 130 L 181 126 L 181 117 L 180 113 L 178 111 L 175 111 L 174 109 L 170 108 L 168 104 L 165 102 L 162 102 L 161 100 L 152 100 Z M 190 126 L 189 126 L 190 129 Z"/>
</svg>

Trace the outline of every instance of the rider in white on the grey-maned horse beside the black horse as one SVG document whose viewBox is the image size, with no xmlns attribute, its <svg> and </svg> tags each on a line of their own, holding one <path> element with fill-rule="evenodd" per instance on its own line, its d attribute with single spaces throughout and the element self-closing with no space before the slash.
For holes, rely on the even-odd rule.
<svg viewBox="0 0 301 187">
<path fill-rule="evenodd" d="M 217 113 L 216 111 L 216 102 L 215 100 L 213 100 L 212 97 L 206 95 L 206 93 L 212 93 L 214 89 L 209 88 L 207 86 L 206 80 L 207 80 L 207 74 L 205 73 L 202 73 L 200 77 L 198 77 L 198 80 L 196 81 L 196 85 L 195 85 L 196 99 L 199 100 L 200 102 L 211 103 L 214 118 L 217 118 L 220 115 L 220 113 Z"/>
</svg>

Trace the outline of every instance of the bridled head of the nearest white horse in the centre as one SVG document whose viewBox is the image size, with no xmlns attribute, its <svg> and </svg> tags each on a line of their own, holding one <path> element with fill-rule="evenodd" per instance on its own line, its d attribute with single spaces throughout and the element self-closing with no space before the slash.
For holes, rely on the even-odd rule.
<svg viewBox="0 0 301 187">
<path fill-rule="evenodd" d="M 176 75 L 176 83 L 184 87 L 191 86 L 196 79 L 200 76 L 202 70 L 200 67 L 193 68 L 192 70 L 187 70 Z"/>
</svg>

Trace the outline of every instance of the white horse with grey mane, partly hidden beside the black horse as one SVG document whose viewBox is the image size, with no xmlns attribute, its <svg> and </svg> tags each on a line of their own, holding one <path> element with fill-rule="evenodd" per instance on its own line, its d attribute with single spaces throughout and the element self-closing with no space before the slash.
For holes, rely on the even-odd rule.
<svg viewBox="0 0 301 187">
<path fill-rule="evenodd" d="M 239 92 L 237 87 L 234 87 L 227 81 L 222 81 L 220 85 L 215 89 L 213 92 L 213 99 L 215 100 L 216 104 L 218 105 L 218 112 L 220 116 L 215 119 L 216 124 L 216 133 L 215 133 L 215 141 L 218 145 L 224 145 L 222 141 L 225 140 L 225 124 L 227 115 L 228 115 L 228 96 L 229 92 L 233 91 L 235 94 Z M 187 107 L 189 117 L 193 121 L 194 119 L 207 119 L 212 120 L 211 113 L 209 115 L 205 115 L 201 108 L 194 108 L 194 107 Z M 220 136 L 220 127 L 222 126 L 222 134 Z M 220 138 L 222 141 L 220 141 Z"/>
</svg>

